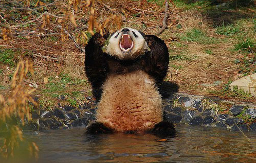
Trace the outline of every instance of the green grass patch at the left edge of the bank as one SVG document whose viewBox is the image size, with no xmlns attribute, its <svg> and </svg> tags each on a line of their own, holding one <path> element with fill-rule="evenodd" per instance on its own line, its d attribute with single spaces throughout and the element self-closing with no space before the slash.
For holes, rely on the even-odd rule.
<svg viewBox="0 0 256 163">
<path fill-rule="evenodd" d="M 14 67 L 16 65 L 14 61 L 15 53 L 12 50 L 0 49 L 0 63 Z"/>
</svg>

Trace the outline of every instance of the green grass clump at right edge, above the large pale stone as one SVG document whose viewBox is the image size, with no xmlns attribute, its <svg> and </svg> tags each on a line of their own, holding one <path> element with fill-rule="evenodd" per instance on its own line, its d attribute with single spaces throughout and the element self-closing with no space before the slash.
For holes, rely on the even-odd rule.
<svg viewBox="0 0 256 163">
<path fill-rule="evenodd" d="M 256 52 L 256 43 L 254 39 L 246 38 L 245 40 L 240 40 L 234 44 L 234 51 L 242 51 L 246 53 Z"/>
</svg>

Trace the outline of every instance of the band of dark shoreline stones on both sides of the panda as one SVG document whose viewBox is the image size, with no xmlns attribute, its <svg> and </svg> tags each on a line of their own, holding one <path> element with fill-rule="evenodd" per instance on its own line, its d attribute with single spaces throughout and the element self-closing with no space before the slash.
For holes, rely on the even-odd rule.
<svg viewBox="0 0 256 163">
<path fill-rule="evenodd" d="M 88 103 L 78 107 L 66 105 L 53 110 L 35 109 L 32 111 L 32 121 L 25 129 L 42 131 L 87 126 L 90 121 L 95 120 L 97 110 L 97 102 L 92 98 L 88 99 Z M 219 113 L 222 109 L 220 103 L 231 106 L 225 114 Z M 174 93 L 163 99 L 163 105 L 166 121 L 256 132 L 256 106 L 252 104 L 236 104 L 216 98 Z M 250 125 L 245 123 L 245 118 L 249 119 Z"/>
</svg>

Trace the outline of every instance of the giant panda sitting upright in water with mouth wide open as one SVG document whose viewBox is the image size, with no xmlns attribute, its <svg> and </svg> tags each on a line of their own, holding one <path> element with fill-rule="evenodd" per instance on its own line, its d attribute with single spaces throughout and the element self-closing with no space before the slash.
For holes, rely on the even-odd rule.
<svg viewBox="0 0 256 163">
<path fill-rule="evenodd" d="M 174 135 L 172 123 L 163 121 L 158 85 L 167 75 L 169 54 L 163 40 L 123 28 L 96 33 L 85 47 L 85 73 L 98 102 L 96 121 L 86 133 L 153 133 Z"/>
</svg>

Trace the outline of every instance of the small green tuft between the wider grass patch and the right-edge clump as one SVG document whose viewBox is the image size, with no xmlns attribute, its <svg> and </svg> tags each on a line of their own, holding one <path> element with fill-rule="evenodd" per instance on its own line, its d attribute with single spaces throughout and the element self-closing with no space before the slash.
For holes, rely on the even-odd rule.
<svg viewBox="0 0 256 163">
<path fill-rule="evenodd" d="M 217 26 L 216 33 L 219 35 L 226 35 L 226 36 L 232 36 L 236 32 L 239 32 L 239 28 L 234 26 L 233 24 L 226 25 L 223 24 L 221 26 Z"/>
</svg>

